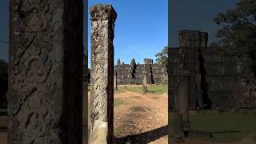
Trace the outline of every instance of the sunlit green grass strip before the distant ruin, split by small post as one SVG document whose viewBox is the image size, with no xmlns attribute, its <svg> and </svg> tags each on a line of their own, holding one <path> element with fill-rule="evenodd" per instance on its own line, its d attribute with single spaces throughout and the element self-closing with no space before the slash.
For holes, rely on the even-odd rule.
<svg viewBox="0 0 256 144">
<path fill-rule="evenodd" d="M 119 86 L 119 89 L 142 93 L 142 86 Z M 168 92 L 168 85 L 149 85 L 148 90 L 154 91 L 154 94 L 164 94 Z"/>
</svg>

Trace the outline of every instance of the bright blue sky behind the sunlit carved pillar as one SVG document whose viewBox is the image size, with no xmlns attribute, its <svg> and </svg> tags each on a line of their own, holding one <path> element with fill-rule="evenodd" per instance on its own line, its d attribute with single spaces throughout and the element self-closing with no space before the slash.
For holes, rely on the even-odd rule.
<svg viewBox="0 0 256 144">
<path fill-rule="evenodd" d="M 114 63 L 130 63 L 132 58 L 143 63 L 144 58 L 155 59 L 154 54 L 168 44 L 168 1 L 148 0 L 89 0 L 111 4 L 118 17 L 114 28 Z M 89 10 L 89 9 L 88 9 Z M 90 18 L 90 12 L 88 12 Z M 88 54 L 90 66 L 90 19 L 88 21 Z"/>
</svg>

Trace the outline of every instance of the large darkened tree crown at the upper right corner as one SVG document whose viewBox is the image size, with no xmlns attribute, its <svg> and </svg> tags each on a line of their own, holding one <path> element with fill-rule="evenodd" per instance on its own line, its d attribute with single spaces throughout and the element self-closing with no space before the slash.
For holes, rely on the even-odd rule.
<svg viewBox="0 0 256 144">
<path fill-rule="evenodd" d="M 237 58 L 256 59 L 256 0 L 241 0 L 232 10 L 218 14 L 214 22 L 222 26 L 217 34 L 215 45 L 222 54 Z M 256 66 L 252 66 L 256 76 Z"/>
</svg>

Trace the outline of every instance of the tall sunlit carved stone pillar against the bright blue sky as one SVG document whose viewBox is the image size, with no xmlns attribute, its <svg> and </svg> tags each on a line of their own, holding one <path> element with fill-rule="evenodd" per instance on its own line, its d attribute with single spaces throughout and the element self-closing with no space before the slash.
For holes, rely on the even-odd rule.
<svg viewBox="0 0 256 144">
<path fill-rule="evenodd" d="M 91 91 L 90 143 L 112 143 L 114 121 L 114 22 L 111 5 L 90 7 Z"/>
</svg>

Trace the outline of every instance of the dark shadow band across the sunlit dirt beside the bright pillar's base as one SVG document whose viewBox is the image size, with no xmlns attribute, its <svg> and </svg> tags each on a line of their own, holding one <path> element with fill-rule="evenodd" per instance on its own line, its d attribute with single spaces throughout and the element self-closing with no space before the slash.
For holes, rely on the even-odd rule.
<svg viewBox="0 0 256 144">
<path fill-rule="evenodd" d="M 168 125 L 159 127 L 158 129 L 146 131 L 142 134 L 128 135 L 126 137 L 117 138 L 118 144 L 122 143 L 134 143 L 134 144 L 144 144 L 149 142 L 154 142 L 158 138 L 162 138 L 168 135 Z"/>
</svg>

